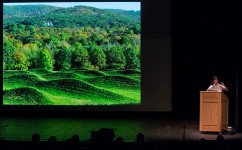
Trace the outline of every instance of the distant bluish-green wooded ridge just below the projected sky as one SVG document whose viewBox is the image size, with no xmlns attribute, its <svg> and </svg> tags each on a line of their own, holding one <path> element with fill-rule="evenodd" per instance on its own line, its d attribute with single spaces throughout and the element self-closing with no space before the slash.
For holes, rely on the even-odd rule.
<svg viewBox="0 0 242 150">
<path fill-rule="evenodd" d="M 122 27 L 140 24 L 140 11 L 119 9 L 99 9 L 89 6 L 56 7 L 49 5 L 15 5 L 3 7 L 3 23 L 55 27 Z"/>
</svg>

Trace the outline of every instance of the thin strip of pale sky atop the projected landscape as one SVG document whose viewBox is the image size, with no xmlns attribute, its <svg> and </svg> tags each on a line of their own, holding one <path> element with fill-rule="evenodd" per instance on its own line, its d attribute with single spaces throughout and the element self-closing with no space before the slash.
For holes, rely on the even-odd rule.
<svg viewBox="0 0 242 150">
<path fill-rule="evenodd" d="M 4 3 L 4 5 L 53 5 L 59 7 L 71 7 L 77 5 L 92 6 L 101 9 L 123 9 L 123 10 L 140 10 L 140 2 L 49 2 L 49 3 Z"/>
</svg>

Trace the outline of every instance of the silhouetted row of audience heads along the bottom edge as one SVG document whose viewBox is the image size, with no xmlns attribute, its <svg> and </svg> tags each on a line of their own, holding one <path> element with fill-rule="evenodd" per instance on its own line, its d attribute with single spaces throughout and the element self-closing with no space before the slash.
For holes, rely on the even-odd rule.
<svg viewBox="0 0 242 150">
<path fill-rule="evenodd" d="M 79 135 L 73 135 L 66 141 L 58 141 L 56 136 L 50 136 L 48 140 L 41 141 L 40 134 L 34 133 L 31 141 L 0 141 L 1 150 L 234 150 L 242 149 L 242 140 L 226 141 L 219 134 L 216 140 L 199 141 L 161 141 L 146 142 L 145 136 L 138 133 L 134 142 L 124 142 L 122 137 L 115 137 L 112 129 L 101 128 L 91 132 L 91 138 L 87 142 L 81 142 Z"/>
</svg>

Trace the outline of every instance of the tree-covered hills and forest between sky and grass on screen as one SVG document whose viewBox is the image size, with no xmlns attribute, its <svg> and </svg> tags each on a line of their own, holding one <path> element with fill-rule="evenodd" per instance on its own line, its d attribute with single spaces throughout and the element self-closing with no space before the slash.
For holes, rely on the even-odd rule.
<svg viewBox="0 0 242 150">
<path fill-rule="evenodd" d="M 140 11 L 3 7 L 3 69 L 140 69 Z"/>
</svg>

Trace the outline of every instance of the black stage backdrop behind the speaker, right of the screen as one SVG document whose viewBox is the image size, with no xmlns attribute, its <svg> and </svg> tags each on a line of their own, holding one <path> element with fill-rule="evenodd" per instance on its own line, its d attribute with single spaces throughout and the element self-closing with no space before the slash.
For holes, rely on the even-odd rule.
<svg viewBox="0 0 242 150">
<path fill-rule="evenodd" d="M 241 7 L 238 0 L 173 1 L 172 93 L 177 113 L 198 118 L 199 91 L 206 90 L 218 75 L 230 89 L 229 126 L 241 118 L 235 115 L 241 101 L 239 87 L 236 104 L 236 77 L 242 70 Z"/>
</svg>

